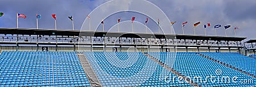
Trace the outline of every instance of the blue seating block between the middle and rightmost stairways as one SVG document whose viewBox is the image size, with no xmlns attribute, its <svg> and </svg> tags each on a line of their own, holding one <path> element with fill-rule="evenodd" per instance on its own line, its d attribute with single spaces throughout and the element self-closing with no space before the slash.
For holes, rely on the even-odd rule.
<svg viewBox="0 0 256 87">
<path fill-rule="evenodd" d="M 152 54 L 152 53 L 150 53 L 150 54 L 154 56 L 156 54 L 161 55 L 161 54 L 165 54 L 165 53 L 166 52 L 164 52 L 164 53 L 155 52 L 154 54 Z M 173 53 L 168 52 L 168 54 L 173 54 Z M 225 67 L 224 65 L 213 62 L 212 60 L 201 57 L 200 55 L 196 55 L 195 52 L 191 52 L 191 53 L 177 52 L 176 57 L 172 57 L 172 56 L 160 56 L 160 57 L 161 58 L 159 58 L 159 56 L 158 57 L 156 56 L 156 58 L 159 58 L 159 60 L 161 60 L 163 62 L 165 61 L 165 59 L 167 59 L 164 57 L 175 58 L 175 62 L 173 64 L 173 69 L 177 70 L 184 76 L 191 77 L 191 80 L 193 82 L 195 81 L 195 83 L 198 83 L 200 86 L 255 86 L 255 83 L 243 84 L 240 82 L 232 83 L 231 81 L 230 81 L 230 83 L 225 83 L 225 81 L 223 81 L 223 83 L 221 81 L 220 81 L 220 83 L 218 83 L 218 81 L 216 81 L 215 83 L 211 83 L 211 80 L 209 78 L 207 78 L 207 76 L 216 76 L 216 77 L 228 76 L 230 78 L 236 76 L 236 77 L 238 77 L 237 81 L 243 81 L 244 79 L 250 79 L 254 82 L 255 79 L 253 77 L 246 76 L 245 74 L 238 72 L 234 69 L 230 69 L 228 67 Z M 220 71 L 221 74 L 220 75 L 216 74 L 216 70 L 221 70 L 222 71 L 222 72 Z M 193 79 L 194 77 L 202 77 L 203 82 L 197 81 L 197 79 Z M 204 82 L 204 81 L 206 81 L 205 78 L 207 78 L 206 83 Z"/>
</svg>

